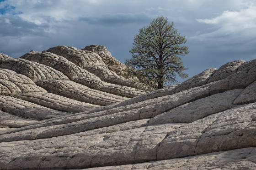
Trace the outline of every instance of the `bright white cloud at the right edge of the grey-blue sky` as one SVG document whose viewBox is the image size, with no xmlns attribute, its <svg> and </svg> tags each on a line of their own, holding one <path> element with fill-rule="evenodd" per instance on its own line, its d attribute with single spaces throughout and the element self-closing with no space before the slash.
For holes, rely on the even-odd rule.
<svg viewBox="0 0 256 170">
<path fill-rule="evenodd" d="M 197 19 L 198 22 L 212 26 L 212 31 L 193 38 L 206 39 L 232 35 L 233 39 L 256 37 L 256 6 L 250 5 L 239 11 L 226 10 L 212 19 Z"/>
</svg>

